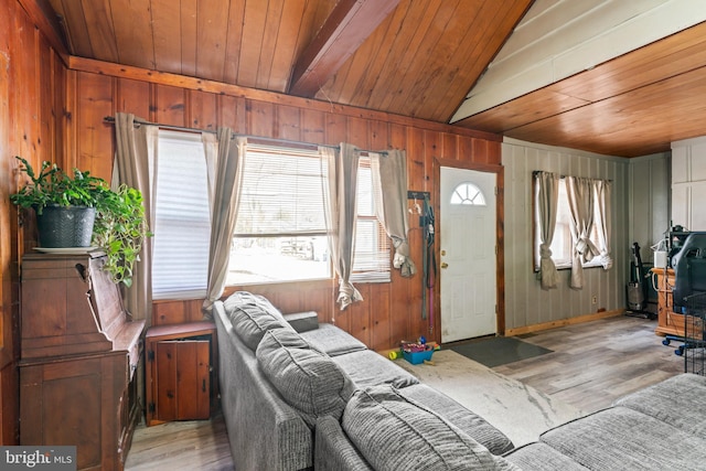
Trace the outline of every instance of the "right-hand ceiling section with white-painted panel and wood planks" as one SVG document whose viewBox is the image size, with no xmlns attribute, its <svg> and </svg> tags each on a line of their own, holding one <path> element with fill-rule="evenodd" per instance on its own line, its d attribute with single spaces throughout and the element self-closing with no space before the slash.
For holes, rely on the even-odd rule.
<svg viewBox="0 0 706 471">
<path fill-rule="evenodd" d="M 451 119 L 613 156 L 706 135 L 706 4 L 536 0 Z"/>
</svg>

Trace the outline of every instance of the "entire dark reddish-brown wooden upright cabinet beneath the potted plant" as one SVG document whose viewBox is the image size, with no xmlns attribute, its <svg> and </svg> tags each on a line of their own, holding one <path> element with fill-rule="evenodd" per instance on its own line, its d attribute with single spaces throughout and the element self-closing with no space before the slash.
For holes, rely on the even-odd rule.
<svg viewBox="0 0 706 471">
<path fill-rule="evenodd" d="M 140 408 L 145 321 L 122 309 L 105 255 L 22 259 L 20 445 L 76 446 L 77 469 L 122 470 Z"/>
</svg>

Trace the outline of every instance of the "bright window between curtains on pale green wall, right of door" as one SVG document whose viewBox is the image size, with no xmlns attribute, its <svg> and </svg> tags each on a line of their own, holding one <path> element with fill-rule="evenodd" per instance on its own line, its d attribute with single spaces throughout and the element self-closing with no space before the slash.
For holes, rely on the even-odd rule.
<svg viewBox="0 0 706 471">
<path fill-rule="evenodd" d="M 535 271 L 539 270 L 539 223 L 538 221 L 538 210 L 536 204 L 537 197 L 537 181 L 535 180 L 535 205 L 534 205 L 534 269 Z M 593 222 L 598 221 L 600 215 L 598 214 L 598 196 L 595 192 L 591 193 L 591 197 L 593 199 Z M 597 246 L 600 246 L 598 239 L 598 228 L 597 224 L 593 224 L 590 234 L 590 240 Z M 556 226 L 554 228 L 554 238 L 552 239 L 552 259 L 554 260 L 554 265 L 557 269 L 563 268 L 571 268 L 573 256 L 571 253 L 574 250 L 574 240 L 571 238 L 571 211 L 569 208 L 569 201 L 566 190 L 566 179 L 559 180 L 559 192 L 558 192 L 558 203 L 557 203 L 557 216 L 556 216 Z M 598 260 L 598 257 L 595 257 L 593 260 L 585 263 L 584 267 L 600 267 L 601 264 Z"/>
</svg>

